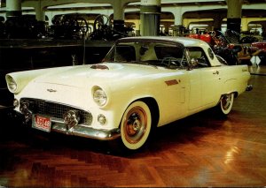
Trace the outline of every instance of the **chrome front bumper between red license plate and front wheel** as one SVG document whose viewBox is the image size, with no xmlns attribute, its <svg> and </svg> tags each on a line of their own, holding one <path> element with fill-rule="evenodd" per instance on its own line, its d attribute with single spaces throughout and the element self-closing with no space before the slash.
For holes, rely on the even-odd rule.
<svg viewBox="0 0 266 188">
<path fill-rule="evenodd" d="M 51 126 L 52 132 L 64 133 L 67 135 L 74 135 L 79 137 L 85 137 L 90 139 L 111 140 L 117 139 L 121 136 L 120 129 L 113 130 L 97 130 L 91 127 L 84 127 L 81 125 L 75 125 L 69 130 L 66 130 L 66 124 L 55 123 Z"/>
</svg>

